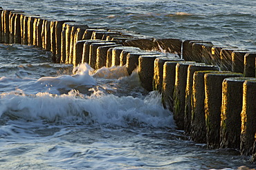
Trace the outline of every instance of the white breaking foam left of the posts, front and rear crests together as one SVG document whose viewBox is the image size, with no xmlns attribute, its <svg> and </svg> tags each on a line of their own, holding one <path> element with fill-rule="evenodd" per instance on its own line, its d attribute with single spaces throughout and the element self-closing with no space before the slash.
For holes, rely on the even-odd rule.
<svg viewBox="0 0 256 170">
<path fill-rule="evenodd" d="M 71 124 L 78 121 L 110 126 L 174 126 L 172 115 L 163 108 L 161 96 L 156 92 L 149 93 L 147 97 L 104 93 L 122 90 L 127 94 L 140 93 L 142 88 L 137 70 L 128 76 L 125 66 L 101 68 L 94 72 L 88 64 L 80 64 L 73 69 L 73 73 L 42 77 L 34 84 L 26 84 L 24 89 L 2 93 L 0 115 L 6 113 L 24 120 L 43 119 Z M 110 86 L 102 84 L 101 88 L 92 88 L 91 95 L 75 90 L 77 86 L 95 86 L 99 78 L 112 83 Z M 69 92 L 57 92 L 63 88 L 69 89 Z M 37 93 L 28 93 L 31 89 Z"/>
</svg>

